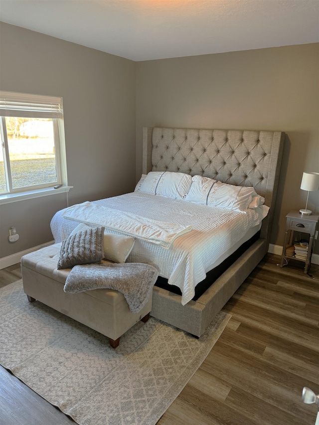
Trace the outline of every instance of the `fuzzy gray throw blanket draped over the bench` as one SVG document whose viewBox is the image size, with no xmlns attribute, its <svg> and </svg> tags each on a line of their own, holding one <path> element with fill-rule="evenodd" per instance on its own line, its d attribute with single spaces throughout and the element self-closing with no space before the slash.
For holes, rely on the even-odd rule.
<svg viewBox="0 0 319 425">
<path fill-rule="evenodd" d="M 132 313 L 139 312 L 151 296 L 159 272 L 142 263 L 85 264 L 74 266 L 69 273 L 64 292 L 76 293 L 108 288 L 122 292 Z"/>
</svg>

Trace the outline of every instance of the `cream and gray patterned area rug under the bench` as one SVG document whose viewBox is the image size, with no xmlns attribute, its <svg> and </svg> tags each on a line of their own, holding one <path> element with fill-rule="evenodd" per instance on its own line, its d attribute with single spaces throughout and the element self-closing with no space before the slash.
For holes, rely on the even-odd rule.
<svg viewBox="0 0 319 425">
<path fill-rule="evenodd" d="M 0 364 L 80 425 L 153 425 L 201 365 L 231 316 L 199 339 L 153 317 L 107 337 L 35 301 L 22 281 L 0 289 Z"/>
</svg>

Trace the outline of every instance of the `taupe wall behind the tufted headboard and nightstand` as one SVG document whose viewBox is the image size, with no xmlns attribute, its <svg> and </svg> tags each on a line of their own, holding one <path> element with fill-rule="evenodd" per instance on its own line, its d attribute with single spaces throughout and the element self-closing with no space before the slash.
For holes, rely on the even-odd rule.
<svg viewBox="0 0 319 425">
<path fill-rule="evenodd" d="M 138 62 L 136 114 L 136 179 L 144 126 L 286 132 L 271 236 L 283 245 L 286 214 L 306 205 L 303 171 L 319 172 L 318 43 Z M 308 208 L 319 214 L 319 192 Z"/>
</svg>

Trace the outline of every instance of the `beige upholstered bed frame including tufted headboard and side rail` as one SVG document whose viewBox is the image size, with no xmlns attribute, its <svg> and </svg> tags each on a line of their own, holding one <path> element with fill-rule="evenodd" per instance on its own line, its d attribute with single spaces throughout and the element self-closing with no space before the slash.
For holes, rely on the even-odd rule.
<svg viewBox="0 0 319 425">
<path fill-rule="evenodd" d="M 200 174 L 223 183 L 254 186 L 270 207 L 260 238 L 196 301 L 155 286 L 151 315 L 200 337 L 268 252 L 285 133 L 251 130 L 143 128 L 143 170 Z"/>
</svg>

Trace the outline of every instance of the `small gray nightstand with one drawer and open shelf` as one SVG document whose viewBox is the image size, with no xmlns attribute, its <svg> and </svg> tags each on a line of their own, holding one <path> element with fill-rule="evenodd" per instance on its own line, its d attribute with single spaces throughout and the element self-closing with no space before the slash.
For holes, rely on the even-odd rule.
<svg viewBox="0 0 319 425">
<path fill-rule="evenodd" d="M 301 215 L 299 211 L 290 211 L 289 214 L 286 215 L 286 233 L 284 240 L 283 253 L 281 256 L 281 264 L 280 267 L 284 266 L 284 260 L 287 258 L 293 258 L 294 260 L 304 261 L 305 265 L 305 274 L 308 273 L 311 251 L 313 247 L 314 237 L 316 234 L 316 227 L 319 222 L 319 215 Z M 294 232 L 308 233 L 309 237 L 309 245 L 306 260 L 301 260 L 299 258 L 286 255 L 287 242 L 290 241 L 289 244 L 293 245 L 294 240 Z"/>
</svg>

